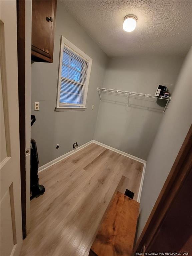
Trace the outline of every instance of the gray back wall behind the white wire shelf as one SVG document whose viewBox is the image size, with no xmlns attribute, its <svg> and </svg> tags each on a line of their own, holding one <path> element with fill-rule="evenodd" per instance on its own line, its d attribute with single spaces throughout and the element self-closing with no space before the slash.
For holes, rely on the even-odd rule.
<svg viewBox="0 0 192 256">
<path fill-rule="evenodd" d="M 154 94 L 161 84 L 172 92 L 182 61 L 179 57 L 111 57 L 103 87 Z M 106 101 L 99 106 L 94 139 L 146 160 L 163 114 L 143 107 L 158 105 L 132 100 L 137 106 L 127 107 L 122 105 L 125 97 L 103 97 Z"/>
</svg>

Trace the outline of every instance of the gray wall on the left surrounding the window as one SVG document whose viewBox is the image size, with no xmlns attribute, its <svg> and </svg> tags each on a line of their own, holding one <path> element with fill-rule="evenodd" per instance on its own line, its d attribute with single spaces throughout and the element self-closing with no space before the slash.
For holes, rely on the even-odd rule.
<svg viewBox="0 0 192 256">
<path fill-rule="evenodd" d="M 93 59 L 85 111 L 54 112 L 61 35 Z M 99 107 L 96 89 L 102 86 L 106 60 L 106 54 L 65 11 L 62 1 L 57 1 L 53 63 L 32 63 L 31 112 L 36 115 L 36 122 L 31 127 L 31 137 L 37 143 L 39 166 L 71 151 L 74 142 L 82 145 L 93 139 Z M 40 102 L 39 111 L 33 111 L 34 102 Z"/>
</svg>

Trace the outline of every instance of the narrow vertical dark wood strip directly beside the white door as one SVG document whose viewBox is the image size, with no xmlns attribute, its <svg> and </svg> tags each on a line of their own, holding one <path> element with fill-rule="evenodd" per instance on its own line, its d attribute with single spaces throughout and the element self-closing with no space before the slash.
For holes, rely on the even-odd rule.
<svg viewBox="0 0 192 256">
<path fill-rule="evenodd" d="M 25 0 L 17 0 L 17 59 L 19 92 L 19 136 L 21 165 L 21 208 L 23 239 L 26 231 L 26 165 L 25 165 Z"/>
</svg>

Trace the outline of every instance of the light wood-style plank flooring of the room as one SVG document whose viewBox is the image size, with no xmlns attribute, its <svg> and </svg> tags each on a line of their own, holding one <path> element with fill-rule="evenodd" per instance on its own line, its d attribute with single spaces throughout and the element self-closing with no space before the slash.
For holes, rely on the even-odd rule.
<svg viewBox="0 0 192 256">
<path fill-rule="evenodd" d="M 142 171 L 142 163 L 95 143 L 42 171 L 46 191 L 31 201 L 20 256 L 87 256 L 117 187 L 137 200 Z"/>
</svg>

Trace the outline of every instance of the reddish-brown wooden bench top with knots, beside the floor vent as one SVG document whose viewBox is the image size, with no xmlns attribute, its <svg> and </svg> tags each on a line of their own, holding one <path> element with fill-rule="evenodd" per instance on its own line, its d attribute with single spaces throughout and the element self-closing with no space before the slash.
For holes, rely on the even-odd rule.
<svg viewBox="0 0 192 256">
<path fill-rule="evenodd" d="M 117 191 L 100 225 L 89 256 L 130 256 L 139 203 Z"/>
</svg>

